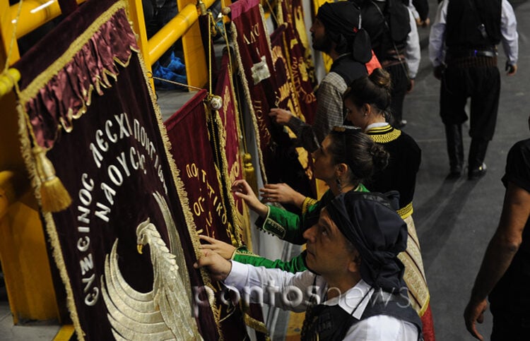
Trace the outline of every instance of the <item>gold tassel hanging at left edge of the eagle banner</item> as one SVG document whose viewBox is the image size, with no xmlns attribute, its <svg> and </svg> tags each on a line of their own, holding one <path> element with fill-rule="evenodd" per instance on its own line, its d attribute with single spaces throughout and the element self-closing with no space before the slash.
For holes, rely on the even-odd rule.
<svg viewBox="0 0 530 341">
<path fill-rule="evenodd" d="M 36 146 L 33 148 L 37 174 L 40 177 L 40 198 L 42 210 L 45 212 L 59 212 L 65 210 L 72 203 L 70 194 L 64 188 L 61 180 L 55 175 L 52 162 L 46 157 L 46 151 Z"/>
</svg>

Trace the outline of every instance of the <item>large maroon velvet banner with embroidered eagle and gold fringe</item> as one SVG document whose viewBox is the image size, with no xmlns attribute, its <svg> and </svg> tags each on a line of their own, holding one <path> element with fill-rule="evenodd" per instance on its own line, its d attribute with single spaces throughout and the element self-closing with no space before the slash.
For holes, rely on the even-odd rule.
<svg viewBox="0 0 530 341">
<path fill-rule="evenodd" d="M 23 156 L 37 198 L 32 145 L 47 149 L 72 198 L 42 217 L 78 340 L 182 340 L 197 330 L 217 340 L 206 274 L 192 267 L 199 241 L 186 193 L 125 8 L 87 1 L 14 66 Z"/>
</svg>

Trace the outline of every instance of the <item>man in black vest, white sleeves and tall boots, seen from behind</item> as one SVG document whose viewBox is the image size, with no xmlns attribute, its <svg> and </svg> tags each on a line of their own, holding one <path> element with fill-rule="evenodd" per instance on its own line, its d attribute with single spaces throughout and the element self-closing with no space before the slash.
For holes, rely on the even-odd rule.
<svg viewBox="0 0 530 341">
<path fill-rule="evenodd" d="M 507 75 L 513 76 L 517 72 L 517 39 L 517 20 L 507 0 L 443 0 L 438 6 L 430 30 L 429 55 L 435 77 L 442 80 L 440 116 L 447 138 L 448 179 L 460 177 L 464 167 L 461 125 L 468 119 L 468 97 L 468 179 L 478 179 L 486 172 L 485 153 L 495 133 L 499 107 L 497 44 L 502 41 Z"/>
</svg>

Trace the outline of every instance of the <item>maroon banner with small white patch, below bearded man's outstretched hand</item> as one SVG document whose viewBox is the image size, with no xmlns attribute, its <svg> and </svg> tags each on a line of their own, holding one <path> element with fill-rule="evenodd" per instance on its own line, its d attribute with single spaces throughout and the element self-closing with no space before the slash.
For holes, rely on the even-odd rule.
<svg viewBox="0 0 530 341">
<path fill-rule="evenodd" d="M 261 172 L 265 182 L 285 182 L 310 195 L 310 182 L 298 162 L 298 154 L 283 126 L 269 119 L 272 107 L 281 99 L 259 0 L 230 5 L 232 40 L 240 68 L 245 98 L 259 137 Z"/>
</svg>

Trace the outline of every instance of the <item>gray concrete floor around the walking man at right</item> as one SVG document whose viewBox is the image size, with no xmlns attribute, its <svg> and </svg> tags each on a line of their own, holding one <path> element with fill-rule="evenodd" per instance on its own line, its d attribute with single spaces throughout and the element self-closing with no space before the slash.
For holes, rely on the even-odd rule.
<svg viewBox="0 0 530 341">
<path fill-rule="evenodd" d="M 429 2 L 433 20 L 437 1 Z M 423 151 L 413 217 L 422 246 L 437 340 L 474 340 L 466 332 L 462 314 L 485 247 L 500 217 L 504 196 L 500 178 L 507 151 L 517 140 L 529 136 L 526 119 L 530 114 L 527 109 L 530 102 L 527 54 L 530 52 L 530 23 L 524 18 L 529 18 L 530 4 L 525 0 L 510 2 L 519 25 L 519 71 L 514 77 L 502 73 L 497 130 L 485 160 L 488 174 L 478 181 L 468 181 L 466 177 L 457 181 L 445 180 L 449 169 L 443 126 L 438 115 L 440 85 L 432 76 L 428 60 L 428 29 L 420 28 L 422 61 L 416 86 L 406 97 L 404 118 L 408 125 L 404 131 L 416 139 Z M 504 63 L 501 52 L 499 65 Z M 165 119 L 192 95 L 159 92 L 159 104 Z M 464 143 L 467 155 L 469 138 L 466 137 Z M 489 312 L 479 328 L 489 340 Z M 58 330 L 59 326 L 49 323 L 13 326 L 8 305 L 5 301 L 0 302 L 0 340 L 52 340 Z"/>
</svg>

